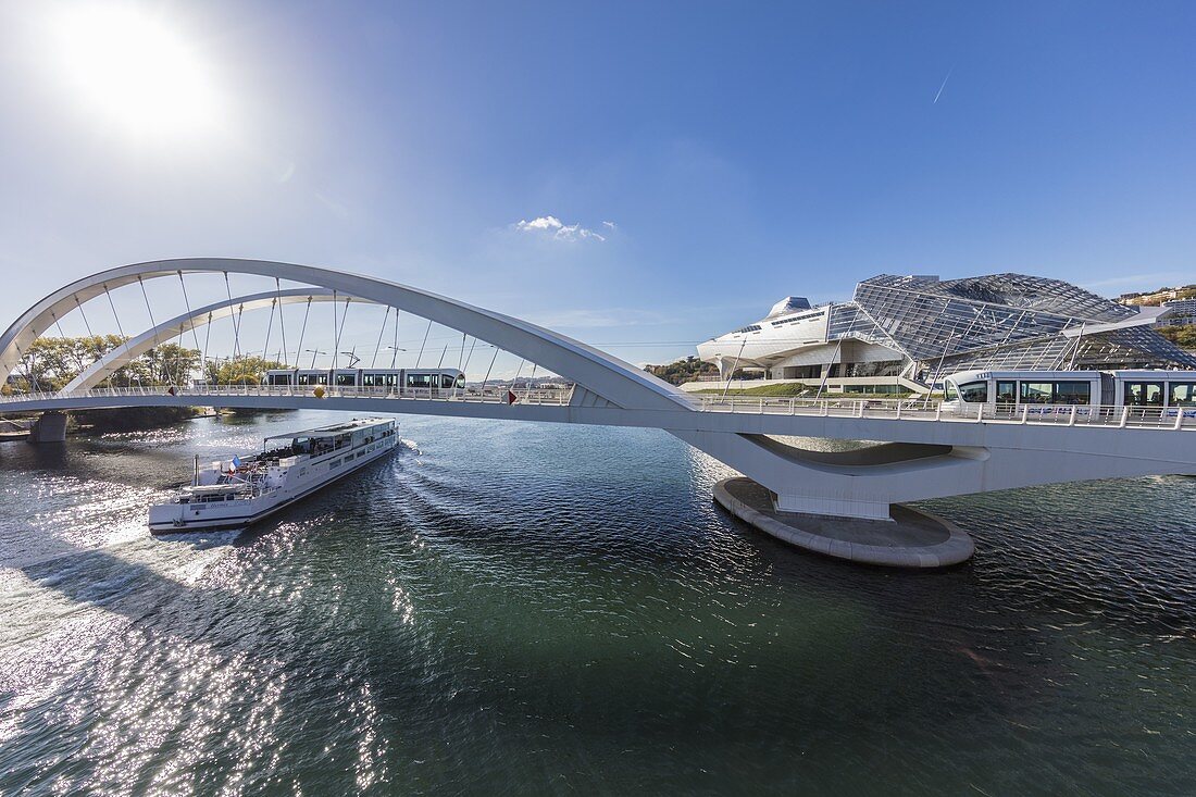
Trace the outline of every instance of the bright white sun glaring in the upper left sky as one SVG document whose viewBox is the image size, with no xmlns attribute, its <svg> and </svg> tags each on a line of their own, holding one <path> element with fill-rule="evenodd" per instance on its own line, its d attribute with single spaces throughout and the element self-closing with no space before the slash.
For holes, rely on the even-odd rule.
<svg viewBox="0 0 1196 797">
<path fill-rule="evenodd" d="M 218 123 L 208 65 L 160 17 L 111 2 L 72 4 L 51 31 L 74 102 L 97 121 L 147 138 L 200 134 Z"/>
</svg>

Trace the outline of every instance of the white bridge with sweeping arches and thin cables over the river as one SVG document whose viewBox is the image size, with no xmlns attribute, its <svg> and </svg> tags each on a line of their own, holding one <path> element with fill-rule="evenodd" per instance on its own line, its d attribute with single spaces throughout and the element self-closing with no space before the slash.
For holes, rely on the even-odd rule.
<svg viewBox="0 0 1196 797">
<path fill-rule="evenodd" d="M 191 308 L 188 276 L 255 275 L 276 290 L 233 296 Z M 920 401 L 878 402 L 791 398 L 727 400 L 683 394 L 672 385 L 591 346 L 543 327 L 419 288 L 344 272 L 289 263 L 189 258 L 122 266 L 80 279 L 25 311 L 0 337 L 0 377 L 19 375 L 30 346 L 72 312 L 98 302 L 111 306 L 114 291 L 154 280 L 182 284 L 176 312 L 153 311 L 151 324 L 124 334 L 123 345 L 86 365 L 61 390 L 16 393 L 0 413 L 150 406 L 321 408 L 359 413 L 415 413 L 456 418 L 641 426 L 667 431 L 775 493 L 780 511 L 847 518 L 887 519 L 890 505 L 1013 487 L 1091 479 L 1196 474 L 1196 418 L 1092 407 L 1044 414 L 946 415 Z M 282 288 L 282 281 L 298 287 Z M 108 299 L 106 304 L 104 298 Z M 403 391 L 330 387 L 323 397 L 310 388 L 206 385 L 179 379 L 169 389 L 105 387 L 123 365 L 163 341 L 216 320 L 248 311 L 271 314 L 286 304 L 343 302 L 376 304 L 396 314 L 448 327 L 484 341 L 572 383 L 570 389 Z M 90 306 L 90 305 L 89 305 Z M 334 310 L 335 311 L 335 310 Z M 155 322 L 155 317 L 170 316 Z M 92 318 L 97 314 L 92 314 Z M 343 322 L 342 322 L 343 323 Z M 281 320 L 280 320 L 281 324 Z M 91 324 L 89 323 L 89 330 Z M 379 336 L 380 340 L 380 336 Z M 80 364 L 84 365 L 84 364 Z M 470 375 L 472 377 L 472 375 Z M 785 437 L 871 440 L 877 445 L 837 454 L 811 451 Z"/>
</svg>

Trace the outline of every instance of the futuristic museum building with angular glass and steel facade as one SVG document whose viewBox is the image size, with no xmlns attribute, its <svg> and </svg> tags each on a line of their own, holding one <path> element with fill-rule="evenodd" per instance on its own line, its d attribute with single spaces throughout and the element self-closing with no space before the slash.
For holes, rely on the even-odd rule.
<svg viewBox="0 0 1196 797">
<path fill-rule="evenodd" d="M 782 299 L 697 353 L 724 379 L 743 370 L 847 393 L 926 390 L 971 369 L 1196 369 L 1196 357 L 1151 329 L 1164 312 L 1024 274 L 881 274 L 850 302 Z"/>
</svg>

